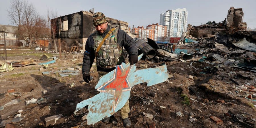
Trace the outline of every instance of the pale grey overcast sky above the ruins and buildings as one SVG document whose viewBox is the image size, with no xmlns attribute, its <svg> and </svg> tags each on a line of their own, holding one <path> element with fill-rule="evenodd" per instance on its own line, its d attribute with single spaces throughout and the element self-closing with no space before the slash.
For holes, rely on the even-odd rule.
<svg viewBox="0 0 256 128">
<path fill-rule="evenodd" d="M 106 16 L 126 21 L 129 26 L 147 26 L 159 23 L 160 13 L 167 10 L 183 9 L 188 11 L 188 24 L 200 25 L 208 21 L 223 21 L 230 7 L 243 8 L 244 22 L 251 28 L 256 28 L 256 0 L 28 0 L 33 3 L 37 11 L 46 16 L 47 7 L 57 9 L 58 15 L 68 15 L 79 11 L 100 11 Z M 10 7 L 9 0 L 0 0 L 0 24 L 11 25 L 7 17 L 7 9 Z"/>
</svg>

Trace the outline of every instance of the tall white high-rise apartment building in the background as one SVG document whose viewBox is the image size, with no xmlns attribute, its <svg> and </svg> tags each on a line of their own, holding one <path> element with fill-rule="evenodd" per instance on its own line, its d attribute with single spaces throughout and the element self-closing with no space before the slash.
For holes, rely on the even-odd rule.
<svg viewBox="0 0 256 128">
<path fill-rule="evenodd" d="M 181 37 L 187 31 L 187 10 L 176 9 L 168 10 L 160 14 L 160 25 L 167 26 L 169 37 Z"/>
</svg>

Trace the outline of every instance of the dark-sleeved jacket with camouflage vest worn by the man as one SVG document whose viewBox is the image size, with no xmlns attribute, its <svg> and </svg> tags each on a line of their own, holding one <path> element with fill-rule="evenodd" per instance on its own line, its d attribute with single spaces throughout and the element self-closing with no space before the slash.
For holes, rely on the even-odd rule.
<svg viewBox="0 0 256 128">
<path fill-rule="evenodd" d="M 97 31 L 91 34 L 85 44 L 85 51 L 82 64 L 82 72 L 88 74 L 92 63 L 95 59 L 96 48 L 110 31 L 111 27 L 108 25 L 107 30 L 103 34 L 99 34 Z M 123 30 L 115 30 L 105 40 L 100 51 L 96 56 L 96 64 L 98 71 L 110 72 L 115 69 L 115 65 L 120 65 L 124 59 L 122 54 L 123 47 L 129 55 L 138 55 L 137 47 L 133 38 L 127 35 Z"/>
</svg>

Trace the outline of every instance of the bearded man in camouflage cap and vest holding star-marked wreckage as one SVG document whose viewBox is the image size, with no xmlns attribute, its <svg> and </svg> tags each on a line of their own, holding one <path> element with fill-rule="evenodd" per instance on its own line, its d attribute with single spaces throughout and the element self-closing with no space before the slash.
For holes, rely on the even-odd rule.
<svg viewBox="0 0 256 128">
<path fill-rule="evenodd" d="M 111 26 L 108 25 L 106 16 L 101 12 L 96 12 L 92 16 L 92 22 L 96 32 L 91 34 L 86 41 L 82 64 L 83 79 L 87 83 L 90 81 L 90 68 L 92 67 L 95 57 L 99 77 L 113 71 L 116 65 L 125 62 L 123 47 L 129 54 L 129 62 L 131 65 L 138 62 L 137 47 L 135 46 L 133 39 L 127 35 L 126 32 L 120 29 L 112 29 Z M 100 43 L 109 31 L 112 31 L 112 33 L 100 47 Z M 100 49 L 97 51 L 98 47 L 100 47 Z M 120 109 L 121 118 L 123 119 L 123 125 L 125 127 L 131 125 L 131 121 L 128 118 L 129 112 L 129 101 L 127 101 L 123 108 Z M 102 121 L 108 123 L 110 117 L 102 119 Z"/>
</svg>

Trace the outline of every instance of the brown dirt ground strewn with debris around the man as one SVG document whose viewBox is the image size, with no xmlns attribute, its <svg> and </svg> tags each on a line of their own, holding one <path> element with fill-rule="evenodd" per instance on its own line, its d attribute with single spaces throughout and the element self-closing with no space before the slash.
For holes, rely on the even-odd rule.
<svg viewBox="0 0 256 128">
<path fill-rule="evenodd" d="M 0 122 L 12 122 L 14 116 L 21 112 L 23 118 L 19 122 L 12 122 L 16 127 L 45 127 L 44 119 L 52 115 L 62 114 L 65 121 L 58 125 L 48 127 L 123 127 L 121 115 L 119 112 L 112 117 L 117 121 L 117 124 L 103 123 L 101 121 L 94 125 L 87 125 L 86 120 L 81 117 L 88 113 L 85 108 L 79 111 L 76 115 L 73 112 L 76 109 L 76 104 L 82 100 L 93 97 L 98 94 L 94 87 L 98 80 L 96 67 L 91 69 L 92 82 L 82 84 L 82 71 L 79 75 L 71 75 L 61 77 L 55 71 L 66 70 L 68 67 L 82 68 L 82 54 L 59 54 L 52 52 L 42 52 L 34 50 L 12 50 L 7 51 L 7 61 L 19 61 L 25 59 L 37 59 L 40 61 L 40 55 L 46 53 L 48 56 L 56 56 L 57 62 L 49 64 L 47 69 L 43 71 L 52 71 L 48 75 L 43 75 L 43 71 L 39 71 L 41 65 L 27 65 L 24 67 L 15 67 L 13 71 L 0 73 L 0 106 L 17 99 L 17 104 L 6 106 L 0 110 Z M 71 61 L 77 59 L 76 61 Z M 1 61 L 1 64 L 4 61 Z M 147 64 L 148 68 L 159 66 L 164 62 L 151 63 L 141 60 L 136 66 L 140 68 L 141 64 Z M 231 110 L 251 126 L 256 126 L 254 121 L 250 119 L 256 118 L 255 102 L 244 97 L 255 94 L 247 90 L 241 90 L 238 86 L 249 83 L 255 87 L 256 73 L 243 71 L 233 67 L 218 66 L 218 64 L 206 64 L 198 61 L 165 62 L 170 75 L 168 81 L 147 87 L 146 83 L 135 85 L 131 90 L 129 98 L 130 109 L 129 118 L 131 127 L 246 127 L 245 125 L 234 121 L 232 117 L 225 113 Z M 215 69 L 214 67 L 218 67 Z M 241 75 L 241 73 L 246 74 Z M 154 74 L 152 74 L 154 75 Z M 193 79 L 189 78 L 193 76 Z M 235 80 L 240 85 L 236 85 L 230 79 Z M 71 88 L 70 84 L 75 85 Z M 189 89 L 190 88 L 190 89 Z M 15 92 L 20 92 L 22 95 L 15 97 L 7 90 L 15 89 Z M 47 90 L 46 94 L 42 91 Z M 191 91 L 192 90 L 192 91 Z M 157 96 L 151 96 L 150 93 L 156 93 Z M 40 104 L 26 105 L 26 101 L 32 98 L 42 99 Z M 191 99 L 192 98 L 192 99 Z M 224 100 L 224 103 L 218 103 L 217 100 Z M 160 107 L 163 106 L 163 107 Z M 177 117 L 176 112 L 180 111 L 184 114 L 182 117 Z M 153 119 L 143 115 L 144 113 L 152 114 Z M 193 114 L 192 114 L 193 113 Z M 191 116 L 196 118 L 195 121 L 189 121 Z M 220 118 L 223 123 L 216 124 L 211 116 Z"/>
</svg>

